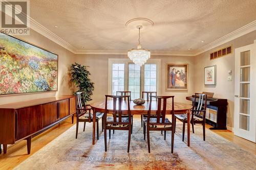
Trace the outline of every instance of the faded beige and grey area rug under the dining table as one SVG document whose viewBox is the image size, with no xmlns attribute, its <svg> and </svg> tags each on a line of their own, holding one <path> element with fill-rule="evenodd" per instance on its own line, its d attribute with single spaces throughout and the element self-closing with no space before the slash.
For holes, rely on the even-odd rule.
<svg viewBox="0 0 256 170">
<path fill-rule="evenodd" d="M 79 124 L 78 138 L 71 127 L 44 148 L 33 154 L 15 169 L 255 169 L 256 156 L 236 144 L 206 129 L 203 141 L 202 126 L 195 126 L 191 133 L 190 147 L 182 142 L 182 126 L 177 125 L 174 154 L 170 153 L 170 132 L 164 140 L 161 132 L 151 132 L 151 154 L 143 139 L 140 119 L 134 119 L 130 153 L 127 153 L 127 132 L 115 131 L 108 139 L 108 151 L 104 152 L 104 134 L 92 145 L 92 124 L 86 132 Z M 101 127 L 100 127 L 101 130 Z M 185 133 L 186 136 L 186 133 Z M 33 143 L 32 143 L 33 147 Z"/>
</svg>

